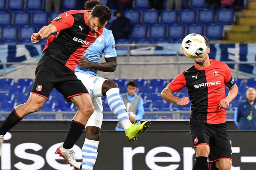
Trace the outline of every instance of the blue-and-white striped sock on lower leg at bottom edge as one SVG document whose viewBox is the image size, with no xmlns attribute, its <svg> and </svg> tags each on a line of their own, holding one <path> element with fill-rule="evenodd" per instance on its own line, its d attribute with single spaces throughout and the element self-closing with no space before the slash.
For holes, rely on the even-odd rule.
<svg viewBox="0 0 256 170">
<path fill-rule="evenodd" d="M 85 138 L 82 147 L 83 164 L 82 170 L 93 170 L 93 166 L 98 156 L 99 141 L 93 141 Z"/>
</svg>

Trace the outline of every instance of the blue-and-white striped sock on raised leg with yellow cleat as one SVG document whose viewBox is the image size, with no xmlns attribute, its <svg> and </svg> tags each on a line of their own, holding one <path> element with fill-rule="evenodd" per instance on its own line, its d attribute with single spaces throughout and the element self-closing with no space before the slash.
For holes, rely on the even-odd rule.
<svg viewBox="0 0 256 170">
<path fill-rule="evenodd" d="M 109 108 L 116 115 L 124 130 L 128 129 L 132 123 L 126 111 L 125 104 L 120 97 L 119 88 L 109 89 L 106 92 L 106 95 Z"/>
</svg>

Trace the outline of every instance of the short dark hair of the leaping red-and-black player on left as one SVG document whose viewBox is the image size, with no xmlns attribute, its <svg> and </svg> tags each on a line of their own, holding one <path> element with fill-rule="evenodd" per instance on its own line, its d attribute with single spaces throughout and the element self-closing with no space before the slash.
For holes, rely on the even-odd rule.
<svg viewBox="0 0 256 170">
<path fill-rule="evenodd" d="M 106 21 L 111 19 L 111 10 L 108 6 L 97 5 L 92 10 L 92 16 L 99 18 L 99 23 L 105 24 Z"/>
</svg>

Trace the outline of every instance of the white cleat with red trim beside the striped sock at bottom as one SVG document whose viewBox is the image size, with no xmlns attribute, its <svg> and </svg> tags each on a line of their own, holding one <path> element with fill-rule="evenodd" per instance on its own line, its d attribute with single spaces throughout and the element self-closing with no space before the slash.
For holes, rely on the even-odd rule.
<svg viewBox="0 0 256 170">
<path fill-rule="evenodd" d="M 57 148 L 56 153 L 66 159 L 67 163 L 70 164 L 70 167 L 73 166 L 74 169 L 80 169 L 79 164 L 76 162 L 76 157 L 72 148 L 65 149 L 63 144 L 61 144 L 61 146 Z"/>
</svg>

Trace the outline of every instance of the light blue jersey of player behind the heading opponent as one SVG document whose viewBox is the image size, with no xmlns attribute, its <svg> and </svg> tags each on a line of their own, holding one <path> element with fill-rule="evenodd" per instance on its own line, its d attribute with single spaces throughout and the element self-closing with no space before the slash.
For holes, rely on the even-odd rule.
<svg viewBox="0 0 256 170">
<path fill-rule="evenodd" d="M 100 62 L 102 54 L 105 58 L 116 57 L 115 40 L 111 30 L 103 28 L 103 33 L 100 35 L 93 44 L 84 52 L 84 57 L 91 62 Z M 97 70 L 93 68 L 81 68 L 79 65 L 76 67 L 77 72 L 97 76 Z"/>
</svg>

